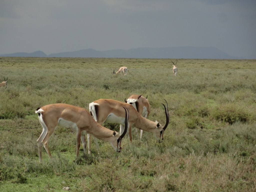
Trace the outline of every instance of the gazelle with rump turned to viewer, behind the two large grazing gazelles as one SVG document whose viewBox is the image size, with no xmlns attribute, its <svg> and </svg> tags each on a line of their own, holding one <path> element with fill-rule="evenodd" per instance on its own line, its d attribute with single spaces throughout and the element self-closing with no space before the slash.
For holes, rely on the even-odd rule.
<svg viewBox="0 0 256 192">
<path fill-rule="evenodd" d="M 125 99 L 124 99 L 125 101 Z M 144 118 L 150 114 L 151 108 L 150 104 L 147 100 L 147 97 L 143 97 L 142 95 L 131 95 L 125 103 L 130 103 Z M 140 139 L 142 139 L 143 130 L 140 130 Z"/>
</svg>

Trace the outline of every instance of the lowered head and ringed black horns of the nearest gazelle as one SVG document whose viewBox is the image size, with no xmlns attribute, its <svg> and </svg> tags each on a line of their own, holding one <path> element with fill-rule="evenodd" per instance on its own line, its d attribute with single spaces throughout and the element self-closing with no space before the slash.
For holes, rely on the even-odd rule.
<svg viewBox="0 0 256 192">
<path fill-rule="evenodd" d="M 124 107 L 123 107 L 124 108 Z M 121 152 L 121 141 L 124 135 L 127 132 L 127 127 L 128 127 L 128 120 L 129 120 L 129 111 L 127 108 L 124 108 L 125 110 L 125 126 L 124 126 L 124 131 L 121 135 L 117 134 L 115 131 L 113 132 L 113 137 L 115 138 L 114 142 L 111 142 L 110 144 L 112 147 L 115 149 L 116 152 Z M 126 111 L 127 110 L 127 111 Z"/>
</svg>

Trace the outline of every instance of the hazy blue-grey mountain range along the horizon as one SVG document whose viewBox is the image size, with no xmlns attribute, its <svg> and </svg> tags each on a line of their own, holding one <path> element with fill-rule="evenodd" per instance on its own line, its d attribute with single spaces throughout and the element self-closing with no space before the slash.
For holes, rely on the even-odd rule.
<svg viewBox="0 0 256 192">
<path fill-rule="evenodd" d="M 177 58 L 177 59 L 243 59 L 226 54 L 215 47 L 135 48 L 97 51 L 83 49 L 46 55 L 42 51 L 3 54 L 0 57 L 95 57 L 95 58 Z"/>
</svg>

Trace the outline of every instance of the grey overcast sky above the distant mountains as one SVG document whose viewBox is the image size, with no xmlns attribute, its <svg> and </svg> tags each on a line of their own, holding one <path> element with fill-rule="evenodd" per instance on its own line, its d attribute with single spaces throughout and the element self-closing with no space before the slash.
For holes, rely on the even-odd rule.
<svg viewBox="0 0 256 192">
<path fill-rule="evenodd" d="M 0 1 L 0 54 L 179 46 L 256 59 L 256 0 Z"/>
</svg>

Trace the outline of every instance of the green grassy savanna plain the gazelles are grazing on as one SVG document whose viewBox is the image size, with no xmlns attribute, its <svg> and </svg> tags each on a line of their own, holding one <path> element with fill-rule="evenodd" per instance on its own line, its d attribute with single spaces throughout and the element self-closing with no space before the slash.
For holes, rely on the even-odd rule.
<svg viewBox="0 0 256 192">
<path fill-rule="evenodd" d="M 114 58 L 0 58 L 0 191 L 255 191 L 256 60 Z M 113 69 L 128 67 L 126 76 Z M 132 128 L 116 153 L 98 140 L 92 154 L 76 133 L 57 127 L 50 159 L 36 140 L 38 107 L 68 103 L 88 110 L 105 98 L 147 96 L 148 119 L 170 121 L 164 140 L 140 140 Z M 119 132 L 118 124 L 103 124 Z M 68 187 L 68 188 L 67 188 Z"/>
</svg>

